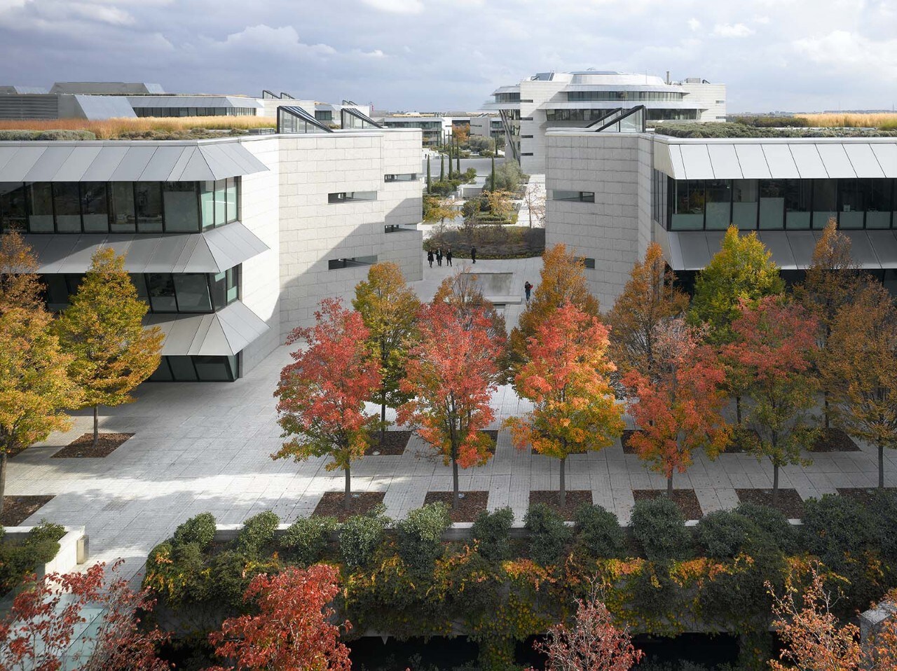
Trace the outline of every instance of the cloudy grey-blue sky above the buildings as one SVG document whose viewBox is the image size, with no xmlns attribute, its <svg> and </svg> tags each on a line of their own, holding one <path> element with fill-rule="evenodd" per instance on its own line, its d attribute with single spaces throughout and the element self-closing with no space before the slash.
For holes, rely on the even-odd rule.
<svg viewBox="0 0 897 671">
<path fill-rule="evenodd" d="M 727 83 L 734 112 L 891 109 L 897 0 L 0 0 L 0 63 L 0 84 L 421 110 L 546 70 L 670 70 Z"/>
</svg>

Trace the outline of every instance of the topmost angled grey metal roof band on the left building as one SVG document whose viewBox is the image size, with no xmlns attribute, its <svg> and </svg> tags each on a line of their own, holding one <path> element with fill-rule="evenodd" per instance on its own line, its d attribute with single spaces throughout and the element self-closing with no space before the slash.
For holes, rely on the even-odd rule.
<svg viewBox="0 0 897 671">
<path fill-rule="evenodd" d="M 240 143 L 0 143 L 4 182 L 213 181 L 268 170 Z"/>
</svg>

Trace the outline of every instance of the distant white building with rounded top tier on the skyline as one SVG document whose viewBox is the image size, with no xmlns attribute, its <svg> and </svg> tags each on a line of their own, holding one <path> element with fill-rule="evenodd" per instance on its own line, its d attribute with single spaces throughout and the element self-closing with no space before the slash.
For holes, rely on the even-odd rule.
<svg viewBox="0 0 897 671">
<path fill-rule="evenodd" d="M 726 86 L 670 82 L 647 74 L 583 70 L 539 73 L 492 92 L 483 109 L 501 114 L 508 155 L 524 172 L 545 172 L 545 131 L 600 125 L 616 109 L 644 106 L 646 120 L 725 121 Z"/>
</svg>

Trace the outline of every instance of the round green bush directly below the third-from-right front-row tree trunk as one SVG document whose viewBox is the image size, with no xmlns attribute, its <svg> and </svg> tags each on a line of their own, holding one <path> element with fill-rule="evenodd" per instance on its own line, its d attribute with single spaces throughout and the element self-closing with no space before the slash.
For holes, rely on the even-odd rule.
<svg viewBox="0 0 897 671">
<path fill-rule="evenodd" d="M 636 501 L 632 506 L 632 536 L 652 562 L 684 559 L 691 553 L 692 536 L 685 518 L 666 496 Z"/>
</svg>

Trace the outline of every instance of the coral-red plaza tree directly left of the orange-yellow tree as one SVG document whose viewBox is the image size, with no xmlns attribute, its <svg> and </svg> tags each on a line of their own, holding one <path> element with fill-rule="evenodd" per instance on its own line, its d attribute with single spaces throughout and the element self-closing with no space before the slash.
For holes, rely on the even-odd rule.
<svg viewBox="0 0 897 671">
<path fill-rule="evenodd" d="M 418 336 L 400 385 L 413 397 L 396 416 L 399 423 L 418 427 L 422 439 L 451 463 L 452 506 L 457 507 L 458 466 L 489 458 L 492 439 L 483 429 L 495 419 L 489 402 L 497 388 L 503 340 L 494 335 L 483 308 L 462 312 L 446 302 L 422 307 Z"/>
</svg>

